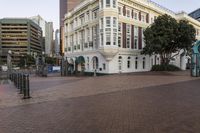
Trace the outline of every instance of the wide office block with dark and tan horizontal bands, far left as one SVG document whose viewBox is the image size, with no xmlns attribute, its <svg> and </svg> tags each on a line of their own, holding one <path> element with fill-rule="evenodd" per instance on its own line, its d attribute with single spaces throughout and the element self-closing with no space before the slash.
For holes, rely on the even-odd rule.
<svg viewBox="0 0 200 133">
<path fill-rule="evenodd" d="M 42 53 L 42 30 L 30 19 L 0 19 L 0 49 L 4 63 L 7 62 L 9 50 L 14 64 L 19 62 L 20 56 L 39 55 Z"/>
</svg>

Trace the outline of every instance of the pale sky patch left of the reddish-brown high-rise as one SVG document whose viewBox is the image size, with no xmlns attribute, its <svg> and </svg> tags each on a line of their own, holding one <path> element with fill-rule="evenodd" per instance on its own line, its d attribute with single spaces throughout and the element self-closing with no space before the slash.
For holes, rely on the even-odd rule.
<svg viewBox="0 0 200 133">
<path fill-rule="evenodd" d="M 0 18 L 40 15 L 59 27 L 59 0 L 0 0 Z"/>
</svg>

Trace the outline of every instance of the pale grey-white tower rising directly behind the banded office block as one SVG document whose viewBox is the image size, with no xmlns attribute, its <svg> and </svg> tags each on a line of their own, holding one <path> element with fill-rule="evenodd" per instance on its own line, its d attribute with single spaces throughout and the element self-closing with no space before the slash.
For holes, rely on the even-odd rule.
<svg viewBox="0 0 200 133">
<path fill-rule="evenodd" d="M 47 22 L 40 15 L 30 17 L 36 24 L 42 28 L 43 32 L 43 51 L 48 56 L 52 55 L 52 44 L 53 44 L 53 23 Z"/>
</svg>

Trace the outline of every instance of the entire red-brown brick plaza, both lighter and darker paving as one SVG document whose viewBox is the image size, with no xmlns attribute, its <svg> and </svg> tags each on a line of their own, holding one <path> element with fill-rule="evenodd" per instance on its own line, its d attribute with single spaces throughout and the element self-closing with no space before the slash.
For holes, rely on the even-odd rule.
<svg viewBox="0 0 200 133">
<path fill-rule="evenodd" d="M 0 133 L 200 132 L 200 78 L 187 72 L 30 82 L 29 100 L 0 85 Z"/>
</svg>

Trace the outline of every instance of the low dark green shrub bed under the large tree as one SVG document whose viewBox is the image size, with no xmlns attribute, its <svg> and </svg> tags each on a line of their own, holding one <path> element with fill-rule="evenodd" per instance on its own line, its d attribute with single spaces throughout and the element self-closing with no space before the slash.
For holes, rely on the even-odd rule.
<svg viewBox="0 0 200 133">
<path fill-rule="evenodd" d="M 151 71 L 180 71 L 181 69 L 174 65 L 153 65 Z"/>
</svg>

